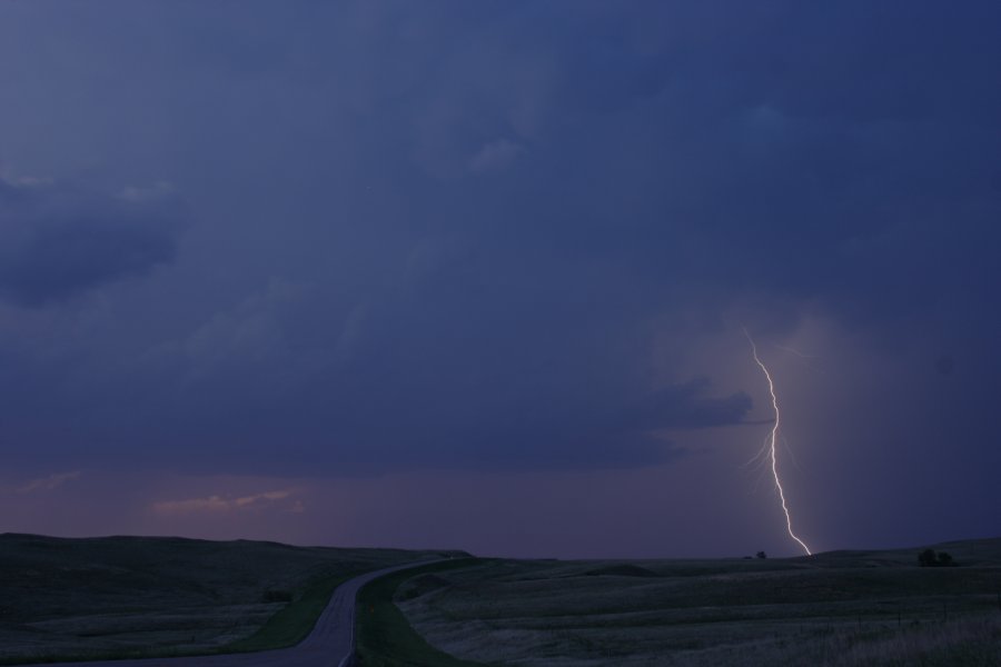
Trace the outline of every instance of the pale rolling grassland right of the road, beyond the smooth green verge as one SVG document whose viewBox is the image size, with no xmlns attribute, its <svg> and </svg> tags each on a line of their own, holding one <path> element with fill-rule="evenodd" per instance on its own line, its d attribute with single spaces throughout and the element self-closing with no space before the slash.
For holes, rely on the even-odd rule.
<svg viewBox="0 0 1001 667">
<path fill-rule="evenodd" d="M 409 576 L 395 599 L 430 645 L 482 664 L 1001 665 L 1001 539 L 935 548 L 958 567 L 918 567 L 919 549 L 486 560 Z"/>
</svg>

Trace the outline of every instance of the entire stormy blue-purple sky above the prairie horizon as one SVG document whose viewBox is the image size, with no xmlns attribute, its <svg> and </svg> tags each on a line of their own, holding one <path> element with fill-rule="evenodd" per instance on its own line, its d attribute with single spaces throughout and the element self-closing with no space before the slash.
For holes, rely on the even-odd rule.
<svg viewBox="0 0 1001 667">
<path fill-rule="evenodd" d="M 1001 534 L 999 22 L 0 2 L 0 531 Z"/>
</svg>

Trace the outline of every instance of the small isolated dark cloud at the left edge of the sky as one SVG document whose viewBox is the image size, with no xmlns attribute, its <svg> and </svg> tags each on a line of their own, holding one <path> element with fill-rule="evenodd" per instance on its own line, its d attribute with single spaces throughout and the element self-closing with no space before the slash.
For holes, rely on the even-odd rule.
<svg viewBox="0 0 1001 667">
<path fill-rule="evenodd" d="M 42 306 L 148 273 L 174 260 L 175 208 L 161 189 L 111 197 L 0 180 L 0 293 Z"/>
</svg>

